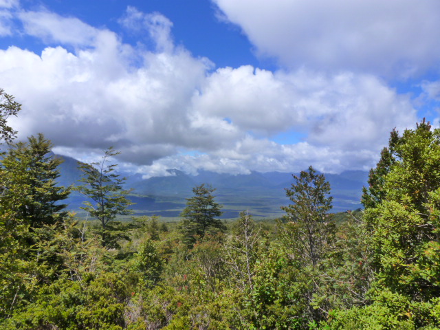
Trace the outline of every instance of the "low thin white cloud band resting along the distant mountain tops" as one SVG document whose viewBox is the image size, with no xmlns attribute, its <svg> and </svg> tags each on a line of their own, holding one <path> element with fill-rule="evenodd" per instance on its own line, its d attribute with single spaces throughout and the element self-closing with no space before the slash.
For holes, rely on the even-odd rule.
<svg viewBox="0 0 440 330">
<path fill-rule="evenodd" d="M 249 144 L 250 141 L 244 142 Z M 196 175 L 198 170 L 219 173 L 248 174 L 261 172 L 295 173 L 310 165 L 324 173 L 340 173 L 347 169 L 369 170 L 375 165 L 378 151 L 369 149 L 344 151 L 328 146 L 314 146 L 307 142 L 280 145 L 268 140 L 254 140 L 251 150 L 238 142 L 233 149 L 202 155 L 173 155 L 157 159 L 149 166 L 137 168 L 139 173 L 151 176 L 166 175 L 166 168 L 179 168 Z"/>
</svg>

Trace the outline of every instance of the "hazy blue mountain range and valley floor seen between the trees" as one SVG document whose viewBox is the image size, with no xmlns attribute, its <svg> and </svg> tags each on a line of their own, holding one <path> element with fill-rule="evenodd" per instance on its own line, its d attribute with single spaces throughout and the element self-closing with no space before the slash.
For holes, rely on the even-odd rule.
<svg viewBox="0 0 440 330">
<path fill-rule="evenodd" d="M 65 159 L 60 166 L 60 184 L 74 184 L 81 175 L 78 162 L 71 157 L 57 157 Z M 332 212 L 362 207 L 360 197 L 362 187 L 366 186 L 368 172 L 347 170 L 338 175 L 326 174 L 325 177 L 331 185 Z M 243 210 L 249 210 L 255 217 L 281 217 L 284 212 L 280 207 L 289 204 L 285 188 L 289 188 L 293 181 L 292 173 L 251 172 L 246 175 L 232 175 L 202 170 L 198 175 L 187 175 L 181 170 L 170 169 L 164 177 L 142 179 L 139 174 L 129 175 L 126 188 L 133 190 L 130 198 L 136 203 L 133 206 L 135 214 L 179 217 L 185 207 L 186 198 L 192 196 L 192 188 L 205 183 L 217 189 L 214 195 L 223 204 L 225 218 L 236 218 Z M 78 192 L 74 192 L 68 201 L 70 208 L 77 210 L 84 199 Z"/>
</svg>

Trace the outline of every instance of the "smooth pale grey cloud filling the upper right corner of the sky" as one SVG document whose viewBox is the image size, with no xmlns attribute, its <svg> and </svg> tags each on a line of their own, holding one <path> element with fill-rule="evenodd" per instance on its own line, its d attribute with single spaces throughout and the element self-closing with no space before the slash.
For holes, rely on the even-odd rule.
<svg viewBox="0 0 440 330">
<path fill-rule="evenodd" d="M 437 0 L 213 0 L 260 54 L 289 68 L 406 78 L 437 65 Z"/>
</svg>

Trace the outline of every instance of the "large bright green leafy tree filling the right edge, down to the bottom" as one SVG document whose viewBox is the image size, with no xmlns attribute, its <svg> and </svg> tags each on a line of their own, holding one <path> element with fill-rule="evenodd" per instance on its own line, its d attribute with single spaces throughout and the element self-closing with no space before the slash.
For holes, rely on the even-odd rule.
<svg viewBox="0 0 440 330">
<path fill-rule="evenodd" d="M 401 135 L 394 130 L 369 182 L 363 201 L 375 273 L 371 305 L 340 311 L 331 329 L 439 327 L 440 129 L 423 119 Z"/>
</svg>

